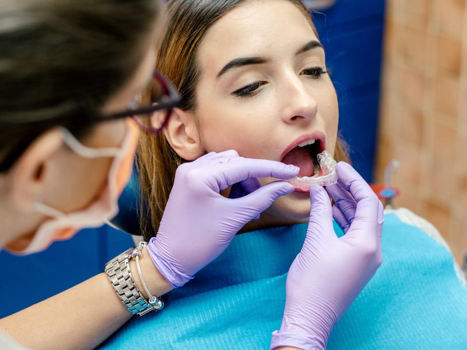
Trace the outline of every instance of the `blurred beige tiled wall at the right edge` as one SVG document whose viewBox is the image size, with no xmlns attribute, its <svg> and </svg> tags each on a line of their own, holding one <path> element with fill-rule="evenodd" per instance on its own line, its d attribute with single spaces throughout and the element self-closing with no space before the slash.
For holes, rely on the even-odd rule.
<svg viewBox="0 0 467 350">
<path fill-rule="evenodd" d="M 387 0 L 376 180 L 467 251 L 467 0 Z"/>
</svg>

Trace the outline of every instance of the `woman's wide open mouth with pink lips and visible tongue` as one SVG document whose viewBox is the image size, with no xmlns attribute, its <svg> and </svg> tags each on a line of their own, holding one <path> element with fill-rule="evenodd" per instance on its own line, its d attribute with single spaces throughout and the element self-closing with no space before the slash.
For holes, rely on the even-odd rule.
<svg viewBox="0 0 467 350">
<path fill-rule="evenodd" d="M 281 161 L 285 164 L 292 164 L 300 168 L 298 176 L 318 177 L 323 175 L 317 155 L 325 150 L 324 135 L 314 135 L 305 137 L 292 143 L 283 155 Z M 303 140 L 303 141 L 302 141 Z M 300 142 L 300 143 L 297 143 Z"/>
</svg>

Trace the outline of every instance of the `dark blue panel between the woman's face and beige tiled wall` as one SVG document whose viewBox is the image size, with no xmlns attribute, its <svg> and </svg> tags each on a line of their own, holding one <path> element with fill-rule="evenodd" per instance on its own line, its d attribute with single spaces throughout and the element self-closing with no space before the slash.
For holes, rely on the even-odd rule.
<svg viewBox="0 0 467 350">
<path fill-rule="evenodd" d="M 377 142 L 384 8 L 384 0 L 337 0 L 314 14 L 338 93 L 339 128 L 354 167 L 368 182 Z"/>
</svg>

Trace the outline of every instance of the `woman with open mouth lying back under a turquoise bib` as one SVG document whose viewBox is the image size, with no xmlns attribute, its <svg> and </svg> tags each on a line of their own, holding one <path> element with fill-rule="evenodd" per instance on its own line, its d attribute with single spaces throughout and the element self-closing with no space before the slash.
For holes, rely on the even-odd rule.
<svg viewBox="0 0 467 350">
<path fill-rule="evenodd" d="M 212 10 L 222 8 L 217 0 L 169 2 L 156 69 L 180 90 L 182 104 L 163 135 L 143 135 L 140 142 L 146 241 L 157 234 L 175 171 L 184 162 L 235 150 L 296 165 L 299 177 L 309 178 L 324 175 L 317 161 L 323 151 L 347 160 L 323 45 L 301 2 L 236 2 L 223 11 Z M 210 20 L 199 20 L 209 11 Z M 144 99 L 151 99 L 151 91 Z M 236 184 L 223 195 L 237 198 L 258 185 Z M 296 185 L 243 227 L 194 280 L 164 296 L 169 307 L 134 318 L 103 348 L 268 349 L 310 214 L 309 190 Z M 386 216 L 387 261 L 338 322 L 328 349 L 462 349 L 467 293 L 452 257 L 420 229 Z M 335 230 L 343 234 L 337 225 Z"/>
</svg>

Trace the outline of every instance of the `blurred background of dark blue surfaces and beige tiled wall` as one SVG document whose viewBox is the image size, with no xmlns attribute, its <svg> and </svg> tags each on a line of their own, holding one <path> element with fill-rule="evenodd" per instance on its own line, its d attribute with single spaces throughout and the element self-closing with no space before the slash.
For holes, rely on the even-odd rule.
<svg viewBox="0 0 467 350">
<path fill-rule="evenodd" d="M 467 250 L 467 0 L 304 2 L 314 11 L 326 49 L 340 130 L 353 165 L 368 182 L 397 188 L 393 206 L 431 221 L 462 264 Z M 385 168 L 393 159 L 400 166 L 385 184 Z M 137 223 L 136 189 L 133 177 L 120 199 L 117 221 L 130 227 Z M 0 317 L 101 273 L 130 245 L 130 235 L 104 226 L 32 256 L 1 251 L 0 265 L 23 273 L 3 270 L 3 280 L 12 287 L 0 290 L 0 298 L 8 300 Z"/>
</svg>

